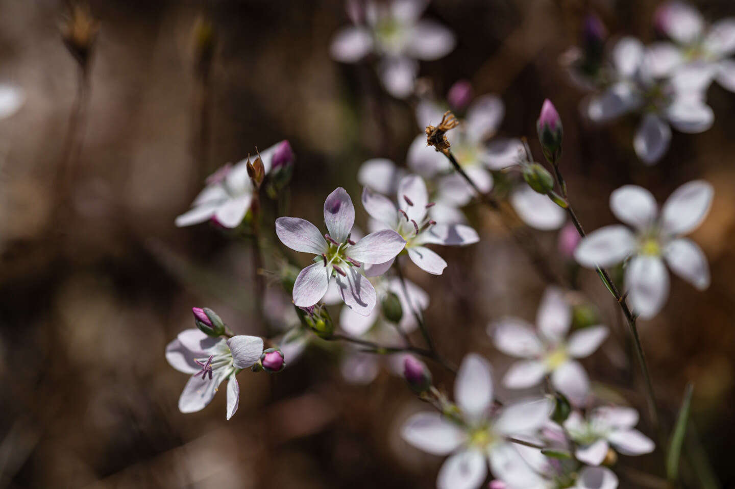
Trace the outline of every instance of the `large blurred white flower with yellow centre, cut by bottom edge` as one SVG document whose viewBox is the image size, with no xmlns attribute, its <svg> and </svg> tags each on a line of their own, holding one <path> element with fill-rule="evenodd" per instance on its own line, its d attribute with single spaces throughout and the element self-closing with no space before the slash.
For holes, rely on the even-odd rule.
<svg viewBox="0 0 735 489">
<path fill-rule="evenodd" d="M 520 457 L 506 438 L 535 432 L 547 421 L 553 403 L 548 399 L 522 401 L 492 410 L 490 364 L 468 354 L 454 385 L 459 415 L 450 420 L 439 413 L 417 413 L 401 434 L 413 446 L 434 455 L 451 456 L 437 479 L 440 489 L 480 488 L 492 474 L 512 487 L 542 487 L 541 477 Z"/>
</svg>

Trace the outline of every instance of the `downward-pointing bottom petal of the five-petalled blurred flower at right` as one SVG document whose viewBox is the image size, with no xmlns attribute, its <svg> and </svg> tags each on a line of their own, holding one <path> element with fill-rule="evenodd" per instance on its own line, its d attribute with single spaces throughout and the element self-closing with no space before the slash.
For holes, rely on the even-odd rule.
<svg viewBox="0 0 735 489">
<path fill-rule="evenodd" d="M 653 318 L 669 296 L 669 272 L 657 256 L 633 257 L 625 268 L 625 288 L 631 309 L 643 319 Z"/>
</svg>

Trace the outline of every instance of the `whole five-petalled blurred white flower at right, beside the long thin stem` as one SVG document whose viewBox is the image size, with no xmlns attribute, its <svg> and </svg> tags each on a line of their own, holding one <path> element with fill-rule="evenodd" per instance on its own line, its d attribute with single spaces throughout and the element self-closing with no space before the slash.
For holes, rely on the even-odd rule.
<svg viewBox="0 0 735 489">
<path fill-rule="evenodd" d="M 628 260 L 625 288 L 635 313 L 652 318 L 669 295 L 664 262 L 682 279 L 704 290 L 709 287 L 709 265 L 692 240 L 682 238 L 703 221 L 714 190 L 693 180 L 674 190 L 659 215 L 653 195 L 637 185 L 624 185 L 610 196 L 612 213 L 620 224 L 597 229 L 583 238 L 574 253 L 580 265 L 606 267 Z"/>
</svg>

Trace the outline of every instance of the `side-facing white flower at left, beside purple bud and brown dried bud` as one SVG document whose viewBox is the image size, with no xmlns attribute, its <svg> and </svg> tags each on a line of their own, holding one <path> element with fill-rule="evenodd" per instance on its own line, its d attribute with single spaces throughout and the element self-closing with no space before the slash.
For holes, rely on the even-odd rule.
<svg viewBox="0 0 735 489">
<path fill-rule="evenodd" d="M 273 156 L 276 150 L 282 147 L 276 143 L 265 151 L 260 151 L 260 159 L 268 175 L 273 166 Z M 251 163 L 257 154 L 251 154 Z M 250 176 L 248 176 L 248 159 L 236 165 L 225 165 L 207 179 L 207 187 L 196 196 L 191 210 L 176 218 L 176 226 L 191 226 L 204 221 L 214 220 L 226 228 L 235 228 L 243 222 L 245 214 L 255 191 Z"/>
</svg>

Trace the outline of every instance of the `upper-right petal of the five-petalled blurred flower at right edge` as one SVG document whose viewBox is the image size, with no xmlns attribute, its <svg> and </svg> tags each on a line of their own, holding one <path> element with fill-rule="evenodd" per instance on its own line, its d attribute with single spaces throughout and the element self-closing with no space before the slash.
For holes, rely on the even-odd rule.
<svg viewBox="0 0 735 489">
<path fill-rule="evenodd" d="M 692 180 L 674 190 L 661 210 L 661 227 L 670 235 L 685 235 L 704 220 L 714 190 L 704 180 Z"/>
</svg>

